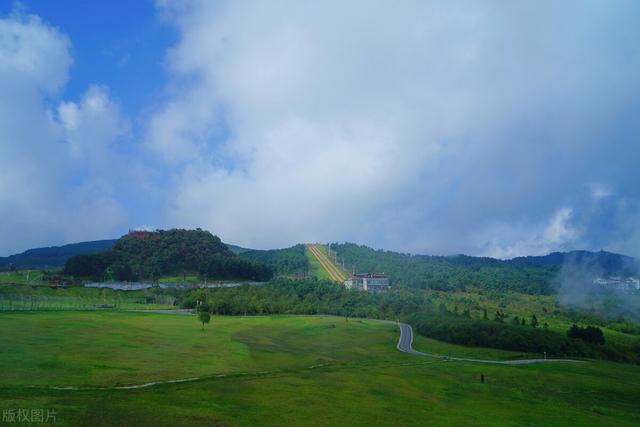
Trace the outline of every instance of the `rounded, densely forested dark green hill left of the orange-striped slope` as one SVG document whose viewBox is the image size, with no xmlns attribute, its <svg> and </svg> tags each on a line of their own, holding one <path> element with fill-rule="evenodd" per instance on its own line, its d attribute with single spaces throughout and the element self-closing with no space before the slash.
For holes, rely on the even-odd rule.
<svg viewBox="0 0 640 427">
<path fill-rule="evenodd" d="M 117 280 L 155 280 L 195 272 L 202 278 L 268 280 L 263 263 L 234 254 L 217 237 L 203 230 L 134 231 L 110 249 L 78 255 L 65 265 L 65 274 L 100 280 L 111 269 Z"/>
</svg>

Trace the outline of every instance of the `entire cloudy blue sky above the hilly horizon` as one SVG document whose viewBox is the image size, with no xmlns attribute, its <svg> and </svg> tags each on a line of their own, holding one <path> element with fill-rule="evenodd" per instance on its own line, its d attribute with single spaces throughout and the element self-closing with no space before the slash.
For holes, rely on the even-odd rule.
<svg viewBox="0 0 640 427">
<path fill-rule="evenodd" d="M 0 256 L 195 228 L 640 256 L 640 3 L 0 1 Z"/>
</svg>

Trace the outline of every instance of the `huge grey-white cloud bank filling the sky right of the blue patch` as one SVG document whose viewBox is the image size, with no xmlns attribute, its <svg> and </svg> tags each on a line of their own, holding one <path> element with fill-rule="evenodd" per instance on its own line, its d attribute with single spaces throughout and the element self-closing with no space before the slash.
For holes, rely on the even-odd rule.
<svg viewBox="0 0 640 427">
<path fill-rule="evenodd" d="M 145 142 L 174 171 L 167 223 L 257 247 L 640 255 L 636 3 L 158 7 L 180 34 Z"/>
</svg>

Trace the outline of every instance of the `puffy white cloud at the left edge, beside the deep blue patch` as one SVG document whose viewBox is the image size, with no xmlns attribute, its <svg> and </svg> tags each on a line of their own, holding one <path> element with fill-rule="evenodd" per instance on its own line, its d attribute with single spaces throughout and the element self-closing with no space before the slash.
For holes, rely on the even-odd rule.
<svg viewBox="0 0 640 427">
<path fill-rule="evenodd" d="M 69 51 L 67 37 L 35 16 L 0 19 L 0 253 L 104 238 L 125 218 L 94 168 L 99 147 L 126 127 L 106 89 L 54 107 Z"/>
</svg>

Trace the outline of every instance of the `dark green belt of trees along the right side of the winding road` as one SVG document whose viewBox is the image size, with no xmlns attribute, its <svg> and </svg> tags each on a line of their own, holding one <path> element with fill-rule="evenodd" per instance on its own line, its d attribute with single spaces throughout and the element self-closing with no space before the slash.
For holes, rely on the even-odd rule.
<svg viewBox="0 0 640 427">
<path fill-rule="evenodd" d="M 528 325 L 505 323 L 500 321 L 499 317 L 496 315 L 494 320 L 472 320 L 465 316 L 427 308 L 409 316 L 407 322 L 421 335 L 453 344 L 540 355 L 547 353 L 551 357 L 588 357 L 640 363 L 640 349 L 619 343 L 605 344 L 604 335 L 599 328 L 579 328 L 583 331 L 588 329 L 590 334 L 595 335 L 598 335 L 599 331 L 601 339 L 594 341 L 591 336 L 587 338 L 573 332 L 562 334 L 547 328 L 535 327 L 532 325 L 533 322 Z"/>
</svg>

